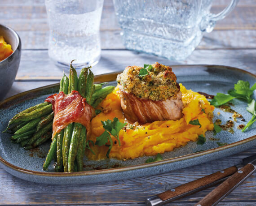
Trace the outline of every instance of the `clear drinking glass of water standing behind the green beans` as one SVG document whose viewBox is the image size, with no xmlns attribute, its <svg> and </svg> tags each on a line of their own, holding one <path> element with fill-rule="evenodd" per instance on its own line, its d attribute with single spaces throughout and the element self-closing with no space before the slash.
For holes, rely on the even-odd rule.
<svg viewBox="0 0 256 206">
<path fill-rule="evenodd" d="M 49 57 L 62 68 L 95 65 L 101 56 L 103 0 L 45 0 L 49 22 Z"/>
</svg>

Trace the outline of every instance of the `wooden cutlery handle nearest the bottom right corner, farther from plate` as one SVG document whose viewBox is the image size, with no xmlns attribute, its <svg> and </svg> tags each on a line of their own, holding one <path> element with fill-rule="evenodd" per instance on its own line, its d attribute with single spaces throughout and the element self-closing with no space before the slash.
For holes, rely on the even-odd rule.
<svg viewBox="0 0 256 206">
<path fill-rule="evenodd" d="M 237 188 L 244 180 L 252 175 L 256 171 L 256 160 L 248 163 L 234 175 L 230 176 L 221 185 L 212 190 L 211 193 L 207 194 L 202 200 L 200 200 L 195 206 L 215 206 L 221 200 Z"/>
</svg>

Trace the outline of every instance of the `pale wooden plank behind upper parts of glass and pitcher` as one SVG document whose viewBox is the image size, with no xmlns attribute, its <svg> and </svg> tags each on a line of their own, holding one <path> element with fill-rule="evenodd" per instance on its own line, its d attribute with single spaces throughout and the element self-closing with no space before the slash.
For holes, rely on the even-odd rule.
<svg viewBox="0 0 256 206">
<path fill-rule="evenodd" d="M 213 6 L 212 13 L 219 13 L 225 6 Z M 2 24 L 14 30 L 49 30 L 44 4 L 42 5 L 1 5 L 0 13 Z M 218 21 L 216 30 L 251 29 L 255 30 L 255 6 L 236 7 L 224 20 Z M 104 30 L 120 30 L 113 4 L 104 4 L 102 11 L 101 28 Z"/>
</svg>

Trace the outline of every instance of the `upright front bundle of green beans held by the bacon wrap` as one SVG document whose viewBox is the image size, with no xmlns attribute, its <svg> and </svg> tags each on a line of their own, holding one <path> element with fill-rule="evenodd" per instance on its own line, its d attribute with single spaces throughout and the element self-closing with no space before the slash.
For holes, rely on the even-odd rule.
<svg viewBox="0 0 256 206">
<path fill-rule="evenodd" d="M 97 99 L 104 99 L 106 95 L 114 89 L 114 86 L 102 88 L 101 84 L 93 85 L 93 79 L 94 75 L 89 68 L 82 69 L 78 78 L 76 71 L 71 64 L 68 86 L 69 93 L 72 90 L 78 90 L 81 96 L 86 98 L 88 104 L 97 106 L 97 103 L 95 103 Z M 65 129 L 53 137 L 43 169 L 46 170 L 49 167 L 56 155 L 56 172 L 83 171 L 85 147 L 86 128 L 80 123 L 69 124 Z"/>
</svg>

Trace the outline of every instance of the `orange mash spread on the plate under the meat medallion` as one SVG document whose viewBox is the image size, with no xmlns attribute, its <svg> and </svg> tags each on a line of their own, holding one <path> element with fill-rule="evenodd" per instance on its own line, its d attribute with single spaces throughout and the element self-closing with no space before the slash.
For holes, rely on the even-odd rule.
<svg viewBox="0 0 256 206">
<path fill-rule="evenodd" d="M 189 141 L 196 141 L 200 134 L 207 130 L 213 130 L 213 110 L 207 99 L 192 90 L 187 90 L 182 84 L 182 102 L 184 109 L 183 117 L 179 120 L 154 121 L 146 124 L 127 124 L 123 130 L 119 132 L 121 146 L 118 145 L 115 137 L 112 137 L 114 143 L 110 151 L 111 158 L 117 159 L 134 159 L 143 155 L 155 155 L 172 151 L 174 148 L 185 146 Z M 125 122 L 122 108 L 120 106 L 119 90 L 115 88 L 113 93 L 108 94 L 106 99 L 102 101 L 100 107 L 103 112 L 93 118 L 91 122 L 92 133 L 90 140 L 96 141 L 96 137 L 100 136 L 105 129 L 102 127 L 101 120 L 113 120 L 117 117 L 120 122 Z M 204 109 L 204 112 L 203 110 Z M 189 124 L 190 120 L 198 119 L 202 125 Z M 96 155 L 90 151 L 86 151 L 89 159 L 105 159 L 107 146 L 91 146 Z"/>
</svg>

